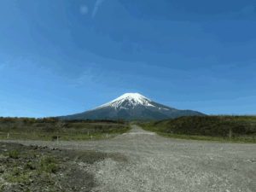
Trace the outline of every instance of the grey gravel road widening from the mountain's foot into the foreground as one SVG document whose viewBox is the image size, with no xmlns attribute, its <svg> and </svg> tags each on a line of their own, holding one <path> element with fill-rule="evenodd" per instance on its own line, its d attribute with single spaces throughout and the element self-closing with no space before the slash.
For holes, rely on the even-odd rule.
<svg viewBox="0 0 256 192">
<path fill-rule="evenodd" d="M 94 192 L 256 191 L 255 144 L 186 141 L 131 127 L 125 134 L 102 141 L 17 143 L 124 155 L 128 162 L 107 158 L 90 167 L 79 163 L 95 175 Z"/>
</svg>

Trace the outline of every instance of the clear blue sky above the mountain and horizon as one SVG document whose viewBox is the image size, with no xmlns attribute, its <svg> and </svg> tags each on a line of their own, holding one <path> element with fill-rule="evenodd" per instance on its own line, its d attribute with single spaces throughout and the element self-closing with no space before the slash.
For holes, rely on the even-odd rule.
<svg viewBox="0 0 256 192">
<path fill-rule="evenodd" d="M 1 0 L 0 116 L 44 118 L 139 93 L 256 115 L 255 0 Z"/>
</svg>

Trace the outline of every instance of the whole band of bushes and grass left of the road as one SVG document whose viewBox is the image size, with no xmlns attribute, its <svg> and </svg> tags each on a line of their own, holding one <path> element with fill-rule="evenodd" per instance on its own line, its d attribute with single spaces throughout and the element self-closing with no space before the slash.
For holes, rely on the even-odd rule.
<svg viewBox="0 0 256 192">
<path fill-rule="evenodd" d="M 131 130 L 125 120 L 58 120 L 0 117 L 0 139 L 39 141 L 101 140 Z M 9 138 L 8 137 L 9 133 Z M 108 136 L 107 136 L 108 134 Z"/>
</svg>

